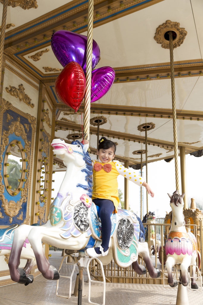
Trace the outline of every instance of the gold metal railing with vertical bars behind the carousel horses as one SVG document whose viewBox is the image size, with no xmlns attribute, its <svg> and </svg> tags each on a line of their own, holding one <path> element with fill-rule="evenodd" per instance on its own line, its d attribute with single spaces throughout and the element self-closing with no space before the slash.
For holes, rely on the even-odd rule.
<svg viewBox="0 0 203 305">
<path fill-rule="evenodd" d="M 164 284 L 168 284 L 168 276 L 167 271 L 164 274 L 164 262 L 166 260 L 166 254 L 165 254 L 165 241 L 169 234 L 169 227 L 170 224 L 164 224 L 164 223 L 156 223 L 156 224 L 145 224 L 145 228 L 148 228 L 148 236 L 151 237 L 151 229 L 154 231 L 154 243 L 157 245 L 157 243 L 160 241 L 160 249 L 159 252 L 156 252 L 156 246 L 154 249 L 154 252 L 152 254 L 152 239 L 148 238 L 148 247 L 149 247 L 149 253 L 150 257 L 152 259 L 153 265 L 158 268 L 161 272 L 160 278 L 152 279 L 149 275 L 149 272 L 145 275 L 138 275 L 132 268 L 132 266 L 129 266 L 127 268 L 119 267 L 117 264 L 114 263 L 114 260 L 110 262 L 110 264 L 103 266 L 104 267 L 104 274 L 106 278 L 106 282 L 114 282 L 114 283 L 138 283 L 138 284 L 162 284 L 163 281 Z M 198 241 L 198 257 L 196 260 L 197 266 L 201 268 L 200 260 L 203 261 L 203 228 L 202 228 L 202 221 L 200 220 L 200 225 L 196 224 L 187 224 L 186 227 L 191 228 L 192 233 L 195 235 L 197 241 Z M 138 255 L 138 263 L 145 266 L 145 262 L 142 258 L 142 255 Z M 146 268 L 146 266 L 145 266 Z M 146 268 L 147 270 L 147 268 Z M 191 267 L 188 269 L 191 271 Z M 101 267 L 100 264 L 97 262 L 92 262 L 92 265 L 89 266 L 89 272 L 92 278 L 94 278 L 97 281 L 102 281 L 102 273 L 101 273 Z M 200 269 L 201 276 L 202 276 L 202 268 Z M 174 267 L 173 268 L 173 274 L 174 277 L 179 280 L 180 273 L 179 271 Z M 196 274 L 197 270 L 196 270 Z M 164 278 L 164 280 L 163 280 Z"/>
</svg>

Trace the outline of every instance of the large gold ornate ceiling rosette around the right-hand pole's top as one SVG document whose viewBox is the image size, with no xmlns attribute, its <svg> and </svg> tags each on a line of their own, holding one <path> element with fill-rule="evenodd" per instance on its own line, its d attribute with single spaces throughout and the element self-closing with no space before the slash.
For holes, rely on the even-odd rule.
<svg viewBox="0 0 203 305">
<path fill-rule="evenodd" d="M 179 22 L 166 20 L 165 23 L 157 27 L 154 39 L 158 44 L 161 44 L 162 48 L 169 49 L 169 40 L 166 40 L 164 37 L 165 33 L 168 31 L 173 31 L 176 33 L 176 38 L 173 40 L 173 48 L 179 47 L 187 35 L 187 31 L 184 27 L 180 27 Z"/>
</svg>

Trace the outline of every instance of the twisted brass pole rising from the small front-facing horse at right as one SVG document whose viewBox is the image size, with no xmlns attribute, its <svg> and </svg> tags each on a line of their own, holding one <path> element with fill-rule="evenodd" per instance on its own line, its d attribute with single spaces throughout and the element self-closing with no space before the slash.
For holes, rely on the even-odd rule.
<svg viewBox="0 0 203 305">
<path fill-rule="evenodd" d="M 171 70 L 171 92 L 172 92 L 172 109 L 173 109 L 173 141 L 174 141 L 174 159 L 175 159 L 175 173 L 176 173 L 176 189 L 179 190 L 178 137 L 177 137 L 177 123 L 176 123 L 176 96 L 175 96 L 175 81 L 174 81 L 173 37 L 172 37 L 172 31 L 169 31 L 169 46 L 170 46 L 170 70 Z"/>
</svg>

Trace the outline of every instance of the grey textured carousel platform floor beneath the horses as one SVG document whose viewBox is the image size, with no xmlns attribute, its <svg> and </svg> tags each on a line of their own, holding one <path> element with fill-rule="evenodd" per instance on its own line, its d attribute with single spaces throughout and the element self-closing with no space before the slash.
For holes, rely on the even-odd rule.
<svg viewBox="0 0 203 305">
<path fill-rule="evenodd" d="M 61 262 L 60 251 L 50 251 L 52 254 L 50 264 L 57 269 Z M 75 270 L 72 293 L 75 286 L 75 278 L 78 270 Z M 82 298 L 82 304 L 89 304 L 87 274 L 84 272 L 85 292 Z M 67 294 L 67 280 L 60 279 L 60 294 Z M 172 305 L 176 303 L 177 288 L 164 288 L 162 285 L 146 284 L 122 284 L 106 283 L 106 305 Z M 188 289 L 189 303 L 192 305 L 202 305 L 203 291 L 192 291 Z M 102 285 L 91 285 L 91 301 L 102 304 L 103 290 Z M 48 281 L 42 275 L 34 279 L 34 282 L 28 286 L 13 284 L 0 287 L 0 304 L 1 305 L 75 305 L 77 297 L 72 296 L 70 299 L 64 299 L 56 296 L 56 281 Z"/>
</svg>

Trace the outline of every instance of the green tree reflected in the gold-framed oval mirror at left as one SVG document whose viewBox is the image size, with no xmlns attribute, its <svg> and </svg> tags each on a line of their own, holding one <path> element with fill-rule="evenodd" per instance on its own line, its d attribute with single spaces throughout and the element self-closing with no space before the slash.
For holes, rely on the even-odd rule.
<svg viewBox="0 0 203 305">
<path fill-rule="evenodd" d="M 13 159 L 9 159 L 9 166 L 7 167 L 6 173 L 9 174 L 9 178 L 7 178 L 9 185 L 12 186 L 12 190 L 16 190 L 19 185 L 18 179 L 21 177 L 22 166 Z"/>
</svg>

